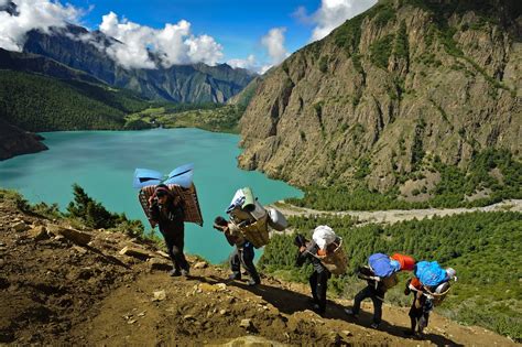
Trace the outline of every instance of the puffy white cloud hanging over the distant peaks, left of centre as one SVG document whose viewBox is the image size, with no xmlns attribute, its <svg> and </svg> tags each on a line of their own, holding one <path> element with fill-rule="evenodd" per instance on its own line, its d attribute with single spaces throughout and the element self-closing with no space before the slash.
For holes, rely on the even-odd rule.
<svg viewBox="0 0 522 347">
<path fill-rule="evenodd" d="M 191 23 L 185 20 L 167 23 L 159 30 L 127 19 L 120 21 L 116 13 L 110 12 L 102 17 L 99 29 L 121 42 L 111 45 L 107 52 L 127 68 L 154 68 L 150 51 L 160 56 L 163 67 L 200 62 L 216 65 L 222 58 L 222 46 L 211 36 L 193 35 Z"/>
</svg>

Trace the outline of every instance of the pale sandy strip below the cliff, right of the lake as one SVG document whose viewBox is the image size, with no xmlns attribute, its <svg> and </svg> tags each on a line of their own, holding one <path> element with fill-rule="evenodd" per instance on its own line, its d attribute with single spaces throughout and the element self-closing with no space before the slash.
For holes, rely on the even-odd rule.
<svg viewBox="0 0 522 347">
<path fill-rule="evenodd" d="M 312 208 L 297 207 L 294 205 L 279 202 L 275 206 L 285 216 L 311 216 L 311 215 L 336 215 L 336 216 L 352 216 L 359 220 L 360 225 L 368 223 L 387 223 L 393 224 L 402 220 L 433 218 L 434 216 L 453 216 L 458 214 L 467 214 L 472 212 L 494 212 L 494 210 L 511 210 L 522 212 L 522 199 L 510 199 L 498 204 L 485 207 L 472 208 L 425 208 L 425 209 L 389 209 L 389 210 L 318 210 Z"/>
</svg>

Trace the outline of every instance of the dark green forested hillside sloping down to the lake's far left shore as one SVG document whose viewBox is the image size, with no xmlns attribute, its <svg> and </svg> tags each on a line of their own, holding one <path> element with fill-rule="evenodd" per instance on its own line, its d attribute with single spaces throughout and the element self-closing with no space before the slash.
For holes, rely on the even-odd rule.
<svg viewBox="0 0 522 347">
<path fill-rule="evenodd" d="M 0 117 L 29 131 L 123 129 L 126 115 L 149 105 L 102 85 L 0 71 Z"/>
</svg>

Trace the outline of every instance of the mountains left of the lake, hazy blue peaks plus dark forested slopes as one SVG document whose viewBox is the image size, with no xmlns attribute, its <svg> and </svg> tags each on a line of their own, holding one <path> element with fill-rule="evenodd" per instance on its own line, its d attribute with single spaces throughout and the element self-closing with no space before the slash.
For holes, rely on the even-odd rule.
<svg viewBox="0 0 522 347">
<path fill-rule="evenodd" d="M 19 15 L 13 2 L 0 11 Z M 23 52 L 0 48 L 0 160 L 45 149 L 28 130 L 122 129 L 149 100 L 225 104 L 255 77 L 227 64 L 123 68 L 105 50 L 116 43 L 68 24 L 28 32 Z"/>
</svg>

